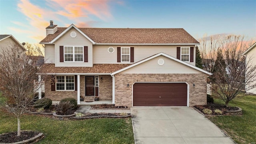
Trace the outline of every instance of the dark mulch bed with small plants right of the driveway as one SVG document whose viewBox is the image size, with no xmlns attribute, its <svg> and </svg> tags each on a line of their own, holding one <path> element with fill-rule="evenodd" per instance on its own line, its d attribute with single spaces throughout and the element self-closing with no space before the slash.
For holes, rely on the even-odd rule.
<svg viewBox="0 0 256 144">
<path fill-rule="evenodd" d="M 220 114 L 216 114 L 214 113 L 214 110 L 219 109 L 222 111 L 222 115 L 226 114 L 227 110 L 238 110 L 238 108 L 236 107 L 232 107 L 232 106 L 225 106 L 223 104 L 215 104 L 215 103 L 207 103 L 207 105 L 197 105 L 194 106 L 196 109 L 200 110 L 203 113 L 203 110 L 205 108 L 208 108 L 210 110 L 212 110 L 212 115 L 220 115 Z"/>
</svg>

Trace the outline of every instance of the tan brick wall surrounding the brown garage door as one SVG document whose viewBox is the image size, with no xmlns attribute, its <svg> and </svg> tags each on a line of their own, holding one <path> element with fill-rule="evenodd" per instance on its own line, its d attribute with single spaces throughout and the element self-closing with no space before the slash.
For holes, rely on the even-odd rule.
<svg viewBox="0 0 256 144">
<path fill-rule="evenodd" d="M 190 85 L 189 106 L 206 104 L 207 76 L 206 74 L 116 74 L 115 105 L 132 106 L 132 85 L 135 82 L 187 82 Z M 127 84 L 130 86 L 127 87 Z"/>
</svg>

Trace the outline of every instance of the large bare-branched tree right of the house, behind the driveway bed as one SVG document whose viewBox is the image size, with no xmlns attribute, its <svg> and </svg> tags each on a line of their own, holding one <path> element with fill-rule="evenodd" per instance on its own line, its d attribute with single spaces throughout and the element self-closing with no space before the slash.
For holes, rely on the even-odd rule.
<svg viewBox="0 0 256 144">
<path fill-rule="evenodd" d="M 219 49 L 222 49 L 225 62 L 219 62 L 220 68 L 216 68 L 214 72 L 212 92 L 228 106 L 228 103 L 244 89 L 245 83 L 256 80 L 256 65 L 250 60 L 247 60 L 246 64 L 243 52 L 251 43 L 248 44 L 244 36 L 228 35 L 219 40 Z"/>
</svg>

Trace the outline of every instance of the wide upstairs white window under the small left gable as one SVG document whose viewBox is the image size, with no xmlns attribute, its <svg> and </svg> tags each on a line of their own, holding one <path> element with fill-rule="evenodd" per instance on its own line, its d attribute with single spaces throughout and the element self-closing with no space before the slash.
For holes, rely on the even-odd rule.
<svg viewBox="0 0 256 144">
<path fill-rule="evenodd" d="M 83 46 L 64 46 L 65 62 L 83 62 L 84 47 Z"/>
</svg>

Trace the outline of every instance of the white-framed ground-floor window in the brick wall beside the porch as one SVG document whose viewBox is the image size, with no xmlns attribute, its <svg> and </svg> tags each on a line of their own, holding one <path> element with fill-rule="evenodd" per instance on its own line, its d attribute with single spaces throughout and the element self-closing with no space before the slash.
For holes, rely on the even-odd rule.
<svg viewBox="0 0 256 144">
<path fill-rule="evenodd" d="M 56 90 L 75 90 L 74 76 L 56 76 Z"/>
</svg>

